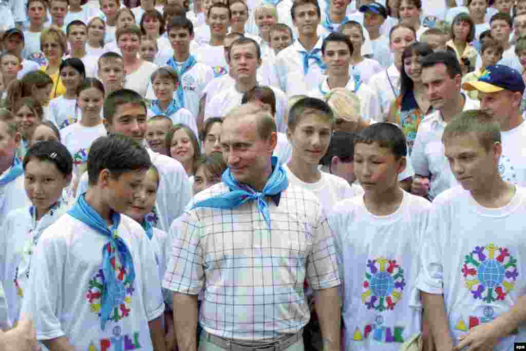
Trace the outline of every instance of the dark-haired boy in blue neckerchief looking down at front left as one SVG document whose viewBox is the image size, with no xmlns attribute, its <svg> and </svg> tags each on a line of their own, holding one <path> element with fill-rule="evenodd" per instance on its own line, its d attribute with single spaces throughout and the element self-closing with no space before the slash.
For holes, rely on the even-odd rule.
<svg viewBox="0 0 526 351">
<path fill-rule="evenodd" d="M 120 214 L 150 165 L 132 139 L 98 138 L 88 155 L 90 188 L 38 240 L 22 311 L 50 350 L 165 350 L 154 252 L 144 229 Z"/>
</svg>

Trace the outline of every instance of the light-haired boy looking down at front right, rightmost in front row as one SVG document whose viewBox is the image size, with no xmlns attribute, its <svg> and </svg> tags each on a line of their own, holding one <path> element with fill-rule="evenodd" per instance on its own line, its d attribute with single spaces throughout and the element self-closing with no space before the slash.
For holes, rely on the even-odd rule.
<svg viewBox="0 0 526 351">
<path fill-rule="evenodd" d="M 442 141 L 461 186 L 430 210 L 416 285 L 424 317 L 438 350 L 511 350 L 526 339 L 526 190 L 500 176 L 494 117 L 463 112 Z"/>
</svg>

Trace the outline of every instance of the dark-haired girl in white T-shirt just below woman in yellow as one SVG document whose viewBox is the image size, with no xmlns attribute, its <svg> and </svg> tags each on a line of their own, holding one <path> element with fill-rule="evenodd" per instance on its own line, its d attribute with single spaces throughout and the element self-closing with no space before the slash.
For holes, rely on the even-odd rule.
<svg viewBox="0 0 526 351">
<path fill-rule="evenodd" d="M 86 71 L 80 58 L 67 58 L 60 64 L 60 79 L 66 92 L 49 103 L 49 119 L 55 121 L 59 129 L 77 122 L 77 89 L 85 78 Z"/>
</svg>

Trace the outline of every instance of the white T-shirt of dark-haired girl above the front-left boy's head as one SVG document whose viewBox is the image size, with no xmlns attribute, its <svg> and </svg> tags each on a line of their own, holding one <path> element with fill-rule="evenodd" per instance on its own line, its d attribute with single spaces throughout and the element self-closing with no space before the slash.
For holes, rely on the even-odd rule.
<svg viewBox="0 0 526 351">
<path fill-rule="evenodd" d="M 95 139 L 106 134 L 102 123 L 94 127 L 84 127 L 77 122 L 60 131 L 60 140 L 73 157 L 75 172 L 78 172 L 78 166 L 88 161 L 89 148 Z"/>
</svg>

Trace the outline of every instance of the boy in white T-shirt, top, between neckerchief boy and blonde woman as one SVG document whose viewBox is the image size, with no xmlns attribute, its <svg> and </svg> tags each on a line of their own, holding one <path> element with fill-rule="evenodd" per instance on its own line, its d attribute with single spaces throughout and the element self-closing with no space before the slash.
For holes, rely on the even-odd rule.
<svg viewBox="0 0 526 351">
<path fill-rule="evenodd" d="M 210 66 L 214 77 L 227 74 L 228 65 L 223 55 L 223 42 L 230 27 L 230 7 L 215 3 L 208 9 L 207 24 L 210 27 L 210 41 L 192 54 L 197 62 Z"/>
</svg>

